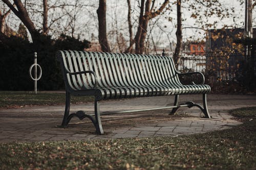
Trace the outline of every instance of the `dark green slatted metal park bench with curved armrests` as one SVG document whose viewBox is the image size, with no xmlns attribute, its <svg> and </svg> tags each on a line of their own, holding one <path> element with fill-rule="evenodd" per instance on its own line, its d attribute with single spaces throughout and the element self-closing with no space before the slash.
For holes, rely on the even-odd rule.
<svg viewBox="0 0 256 170">
<path fill-rule="evenodd" d="M 199 107 L 206 118 L 210 118 L 207 109 L 206 93 L 210 86 L 204 85 L 201 72 L 177 72 L 172 58 L 153 55 L 118 54 L 81 51 L 58 51 L 56 53 L 61 63 L 63 78 L 66 86 L 66 108 L 62 127 L 66 127 L 73 116 L 79 119 L 88 117 L 92 120 L 98 134 L 103 134 L 100 115 L 127 113 L 145 110 L 173 108 L 174 114 L 180 107 Z M 197 74 L 202 83 L 183 85 L 179 76 Z M 95 114 L 83 111 L 69 114 L 70 95 L 94 95 Z M 178 104 L 180 94 L 203 94 L 203 107 L 194 102 Z M 173 106 L 143 110 L 100 113 L 99 101 L 121 98 L 138 98 L 160 95 L 175 95 Z"/>
</svg>

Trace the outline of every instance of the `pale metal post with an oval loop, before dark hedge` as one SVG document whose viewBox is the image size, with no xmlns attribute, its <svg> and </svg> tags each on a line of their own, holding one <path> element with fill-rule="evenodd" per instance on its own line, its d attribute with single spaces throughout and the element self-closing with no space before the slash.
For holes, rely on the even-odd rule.
<svg viewBox="0 0 256 170">
<path fill-rule="evenodd" d="M 37 66 L 39 68 L 39 76 L 37 77 Z M 34 77 L 32 76 L 32 68 L 34 68 Z M 29 75 L 32 80 L 34 80 L 34 90 L 35 93 L 37 93 L 37 80 L 39 80 L 42 76 L 42 68 L 39 64 L 37 64 L 37 54 L 36 52 L 34 53 L 34 64 L 32 64 L 29 68 Z"/>
</svg>

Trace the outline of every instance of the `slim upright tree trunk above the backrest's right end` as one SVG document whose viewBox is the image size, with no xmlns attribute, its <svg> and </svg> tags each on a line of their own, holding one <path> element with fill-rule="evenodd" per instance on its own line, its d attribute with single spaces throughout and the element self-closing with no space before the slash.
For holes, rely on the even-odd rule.
<svg viewBox="0 0 256 170">
<path fill-rule="evenodd" d="M 180 59 L 180 50 L 181 50 L 181 42 L 182 42 L 182 28 L 181 28 L 181 0 L 177 1 L 177 44 L 174 52 L 174 62 L 176 65 L 179 64 Z"/>
</svg>

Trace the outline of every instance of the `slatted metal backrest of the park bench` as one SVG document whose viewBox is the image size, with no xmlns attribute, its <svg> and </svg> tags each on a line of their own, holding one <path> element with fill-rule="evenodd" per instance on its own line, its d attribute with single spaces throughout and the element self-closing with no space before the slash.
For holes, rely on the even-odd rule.
<svg viewBox="0 0 256 170">
<path fill-rule="evenodd" d="M 64 68 L 66 86 L 73 90 L 92 89 L 94 76 L 69 75 L 65 68 L 93 70 L 100 88 L 181 85 L 170 57 L 81 51 L 58 51 L 56 56 Z"/>
</svg>

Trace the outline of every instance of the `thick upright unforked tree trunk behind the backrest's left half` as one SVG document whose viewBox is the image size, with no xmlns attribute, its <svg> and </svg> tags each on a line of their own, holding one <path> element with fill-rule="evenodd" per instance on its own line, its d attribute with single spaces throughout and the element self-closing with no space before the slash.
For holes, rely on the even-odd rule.
<svg viewBox="0 0 256 170">
<path fill-rule="evenodd" d="M 97 9 L 99 21 L 99 43 L 103 52 L 110 52 L 108 38 L 106 37 L 106 0 L 99 0 Z"/>
</svg>

